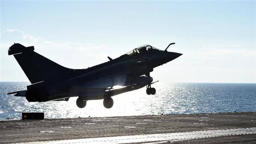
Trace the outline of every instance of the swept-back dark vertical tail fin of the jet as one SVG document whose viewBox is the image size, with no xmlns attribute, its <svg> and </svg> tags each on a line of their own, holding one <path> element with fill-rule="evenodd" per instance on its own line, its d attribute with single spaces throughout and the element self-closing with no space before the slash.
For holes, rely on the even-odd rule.
<svg viewBox="0 0 256 144">
<path fill-rule="evenodd" d="M 31 83 L 73 72 L 73 69 L 65 68 L 34 52 L 34 46 L 25 47 L 18 43 L 13 44 L 8 50 L 8 55 L 14 55 Z"/>
</svg>

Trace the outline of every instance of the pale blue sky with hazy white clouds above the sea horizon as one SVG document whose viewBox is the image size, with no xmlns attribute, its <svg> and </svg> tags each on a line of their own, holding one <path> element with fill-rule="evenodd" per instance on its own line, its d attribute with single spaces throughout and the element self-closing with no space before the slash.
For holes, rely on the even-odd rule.
<svg viewBox="0 0 256 144">
<path fill-rule="evenodd" d="M 28 81 L 14 43 L 69 68 L 143 44 L 184 55 L 152 72 L 162 82 L 256 83 L 255 1 L 3 1 L 0 81 Z"/>
</svg>

